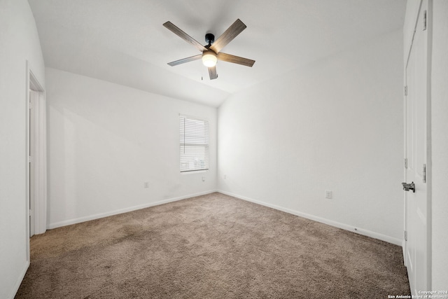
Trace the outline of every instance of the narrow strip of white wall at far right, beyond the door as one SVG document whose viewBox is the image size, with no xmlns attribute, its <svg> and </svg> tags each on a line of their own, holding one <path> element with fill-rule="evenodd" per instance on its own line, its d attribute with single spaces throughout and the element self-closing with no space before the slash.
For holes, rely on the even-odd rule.
<svg viewBox="0 0 448 299">
<path fill-rule="evenodd" d="M 432 289 L 448 289 L 448 1 L 433 1 L 432 146 L 433 263 Z"/>
</svg>

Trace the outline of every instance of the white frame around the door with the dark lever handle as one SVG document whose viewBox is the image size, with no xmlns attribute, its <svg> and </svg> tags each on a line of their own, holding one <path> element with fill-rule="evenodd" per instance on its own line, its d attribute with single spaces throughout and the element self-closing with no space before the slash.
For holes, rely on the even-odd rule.
<svg viewBox="0 0 448 299">
<path fill-rule="evenodd" d="M 431 160 L 431 57 L 432 57 L 432 15 L 433 15 L 433 0 L 414 0 L 407 2 L 407 15 L 403 33 L 405 35 L 405 49 L 404 49 L 404 85 L 407 88 L 407 64 L 409 63 L 409 56 L 411 54 L 412 45 L 414 41 L 414 34 L 416 32 L 417 22 L 423 1 L 427 1 L 426 8 L 426 30 L 427 30 L 427 45 L 426 45 L 426 287 L 431 290 L 431 265 L 432 265 L 432 245 L 431 245 L 431 231 L 432 231 L 432 160 Z M 409 32 L 412 31 L 412 34 Z M 406 138 L 407 138 L 407 106 L 406 106 L 406 92 L 403 95 L 403 116 L 404 116 L 404 157 L 407 158 Z M 405 166 L 405 165 L 403 165 Z M 407 180 L 407 168 L 404 169 L 404 179 Z M 407 181 L 406 181 L 407 182 Z M 404 202 L 404 229 L 405 233 L 408 228 L 407 219 L 407 202 L 406 193 L 403 192 Z M 407 265 L 407 240 L 403 238 L 402 253 L 405 265 Z M 417 294 L 413 294 L 417 295 Z"/>
</svg>

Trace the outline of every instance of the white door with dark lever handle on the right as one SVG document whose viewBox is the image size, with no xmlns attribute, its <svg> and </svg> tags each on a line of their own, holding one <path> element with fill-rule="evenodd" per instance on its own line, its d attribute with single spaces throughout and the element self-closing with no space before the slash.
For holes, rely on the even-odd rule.
<svg viewBox="0 0 448 299">
<path fill-rule="evenodd" d="M 412 295 L 430 290 L 428 250 L 428 1 L 423 0 L 416 21 L 416 31 L 406 64 L 405 155 L 406 183 L 414 190 L 405 192 L 405 263 Z M 414 192 L 415 191 L 415 192 Z M 407 235 L 407 237 L 406 237 Z"/>
</svg>

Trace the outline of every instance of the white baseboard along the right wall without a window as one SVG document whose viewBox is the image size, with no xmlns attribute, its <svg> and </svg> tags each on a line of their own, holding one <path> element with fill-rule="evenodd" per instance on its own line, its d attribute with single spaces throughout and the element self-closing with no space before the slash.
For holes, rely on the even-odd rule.
<svg viewBox="0 0 448 299">
<path fill-rule="evenodd" d="M 334 226 L 336 228 L 342 228 L 343 230 L 349 230 L 351 232 L 356 232 L 359 235 L 365 235 L 367 237 L 372 237 L 374 239 L 380 239 L 381 241 L 384 241 L 384 242 L 388 242 L 388 243 L 392 243 L 392 244 L 395 244 L 395 245 L 398 245 L 398 246 L 402 246 L 402 239 L 397 239 L 397 238 L 394 238 L 394 237 L 390 237 L 388 235 L 382 235 L 382 234 L 379 234 L 378 232 L 372 232 L 370 230 L 363 230 L 362 228 L 356 228 L 354 226 L 351 226 L 351 225 L 348 225 L 348 224 L 345 224 L 345 223 L 339 223 L 337 221 L 332 221 L 332 220 L 328 220 L 328 219 L 321 218 L 321 217 L 318 217 L 318 216 L 314 216 L 314 215 L 311 215 L 311 214 L 302 213 L 300 211 L 295 211 L 293 209 L 280 207 L 280 206 L 277 206 L 276 204 L 268 204 L 267 202 L 261 202 L 260 200 L 254 200 L 253 198 L 242 196 L 242 195 L 238 195 L 238 194 L 235 194 L 235 193 L 230 193 L 230 192 L 226 192 L 226 191 L 223 191 L 223 190 L 218 190 L 218 192 L 219 193 L 223 193 L 225 195 L 230 195 L 230 196 L 233 196 L 233 197 L 237 197 L 240 200 L 246 200 L 248 202 L 253 202 L 255 204 L 261 204 L 262 206 L 265 206 L 265 207 L 270 207 L 272 209 L 277 209 L 279 211 L 284 211 L 286 213 L 293 214 L 293 215 L 296 215 L 296 216 L 300 216 L 300 217 L 303 217 L 303 218 L 307 218 L 307 219 L 310 219 L 310 220 L 313 220 L 313 221 L 325 223 L 325 224 Z"/>
</svg>

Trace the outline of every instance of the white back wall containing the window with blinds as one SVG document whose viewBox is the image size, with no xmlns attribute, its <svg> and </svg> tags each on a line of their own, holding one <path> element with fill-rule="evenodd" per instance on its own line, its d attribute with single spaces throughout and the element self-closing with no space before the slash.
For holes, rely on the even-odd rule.
<svg viewBox="0 0 448 299">
<path fill-rule="evenodd" d="M 56 69 L 45 76 L 50 228 L 216 190 L 215 108 Z M 209 120 L 208 172 L 179 172 L 179 113 Z"/>
</svg>

